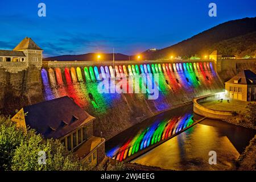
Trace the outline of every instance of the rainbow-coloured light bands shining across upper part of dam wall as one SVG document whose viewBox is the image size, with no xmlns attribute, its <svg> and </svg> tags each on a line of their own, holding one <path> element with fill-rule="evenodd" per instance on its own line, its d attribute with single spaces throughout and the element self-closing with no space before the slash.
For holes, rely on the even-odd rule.
<svg viewBox="0 0 256 182">
<path fill-rule="evenodd" d="M 89 65 L 85 67 L 48 68 L 42 69 L 42 82 L 44 85 L 44 97 L 46 100 L 69 96 L 83 108 L 96 109 L 98 112 L 108 110 L 108 106 L 121 96 L 119 94 L 100 94 L 97 85 L 101 80 L 117 82 L 123 73 L 125 76 L 136 77 L 143 73 L 139 80 L 133 79 L 133 85 L 139 81 L 139 85 L 146 86 L 147 75 L 158 74 L 159 82 L 155 82 L 159 90 L 159 97 L 154 102 L 155 109 L 162 111 L 170 108 L 166 102 L 166 96 L 174 96 L 176 93 L 191 94 L 200 86 L 210 86 L 217 80 L 213 65 L 210 62 L 183 62 L 183 63 L 155 63 L 155 64 L 129 64 L 129 65 Z M 146 98 L 147 93 L 140 93 L 140 97 Z M 197 91 L 198 92 L 198 91 Z"/>
</svg>

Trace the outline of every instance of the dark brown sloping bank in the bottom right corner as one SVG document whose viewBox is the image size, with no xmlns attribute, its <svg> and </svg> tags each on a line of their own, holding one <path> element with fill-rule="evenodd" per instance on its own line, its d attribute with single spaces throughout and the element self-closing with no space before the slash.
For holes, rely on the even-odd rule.
<svg viewBox="0 0 256 182">
<path fill-rule="evenodd" d="M 256 135 L 250 140 L 250 144 L 237 160 L 237 168 L 239 171 L 255 171 L 256 170 Z"/>
</svg>

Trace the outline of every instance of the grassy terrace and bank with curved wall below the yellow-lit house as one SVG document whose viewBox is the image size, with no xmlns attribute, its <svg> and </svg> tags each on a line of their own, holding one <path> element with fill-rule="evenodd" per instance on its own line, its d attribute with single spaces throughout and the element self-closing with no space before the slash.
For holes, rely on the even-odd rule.
<svg viewBox="0 0 256 182">
<path fill-rule="evenodd" d="M 234 100 L 226 98 L 224 94 L 222 92 L 195 98 L 194 113 L 255 130 L 256 102 Z"/>
</svg>

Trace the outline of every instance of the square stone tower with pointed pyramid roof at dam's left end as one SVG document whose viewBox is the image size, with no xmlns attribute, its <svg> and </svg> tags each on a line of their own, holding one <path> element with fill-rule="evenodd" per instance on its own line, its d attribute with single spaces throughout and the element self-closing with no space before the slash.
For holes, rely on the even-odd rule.
<svg viewBox="0 0 256 182">
<path fill-rule="evenodd" d="M 24 38 L 13 50 L 23 51 L 28 67 L 42 67 L 43 49 L 36 45 L 31 38 Z"/>
</svg>

